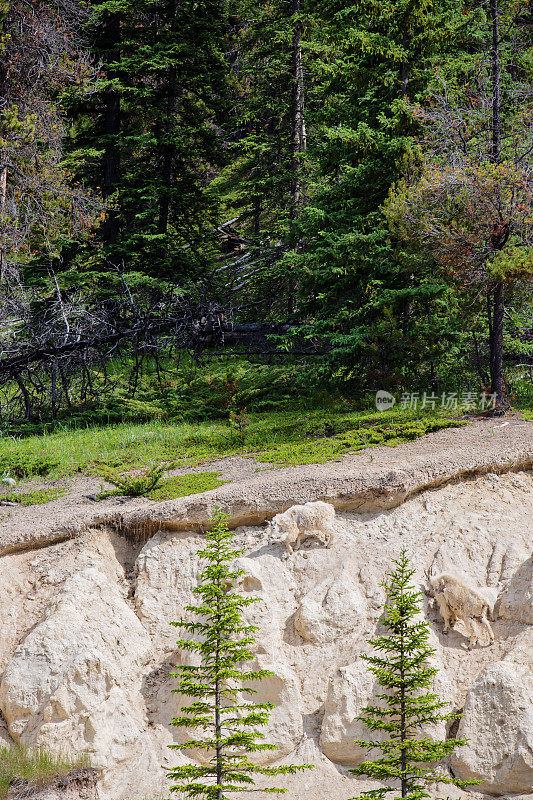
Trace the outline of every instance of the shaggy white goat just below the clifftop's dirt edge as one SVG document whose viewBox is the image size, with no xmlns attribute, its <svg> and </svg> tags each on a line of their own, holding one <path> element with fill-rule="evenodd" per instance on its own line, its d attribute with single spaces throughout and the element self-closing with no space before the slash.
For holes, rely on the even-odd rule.
<svg viewBox="0 0 533 800">
<path fill-rule="evenodd" d="M 291 506 L 269 523 L 273 538 L 284 539 L 287 552 L 298 550 L 308 536 L 316 536 L 326 547 L 333 542 L 335 509 L 331 503 L 316 500 L 301 506 Z M 294 547 L 293 547 L 294 545 Z"/>
</svg>

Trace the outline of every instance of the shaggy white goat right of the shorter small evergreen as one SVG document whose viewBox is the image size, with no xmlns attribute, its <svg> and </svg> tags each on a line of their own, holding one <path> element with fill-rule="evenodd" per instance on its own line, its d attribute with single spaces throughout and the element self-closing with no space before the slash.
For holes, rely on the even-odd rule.
<svg viewBox="0 0 533 800">
<path fill-rule="evenodd" d="M 494 633 L 487 617 L 491 612 L 491 604 L 481 593 L 482 590 L 467 586 L 461 578 L 444 572 L 442 575 L 428 579 L 428 594 L 434 598 L 439 611 L 444 619 L 444 631 L 448 633 L 457 620 L 464 624 L 470 637 L 469 647 L 474 647 L 480 637 L 480 630 L 484 630 L 489 637 L 489 644 L 494 642 Z"/>
</svg>

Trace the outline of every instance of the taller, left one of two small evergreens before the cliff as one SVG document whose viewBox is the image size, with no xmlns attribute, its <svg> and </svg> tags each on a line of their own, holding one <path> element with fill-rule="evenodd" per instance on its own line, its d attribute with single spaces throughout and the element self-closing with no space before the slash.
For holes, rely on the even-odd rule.
<svg viewBox="0 0 533 800">
<path fill-rule="evenodd" d="M 181 709 L 181 715 L 172 720 L 172 725 L 198 728 L 201 733 L 196 739 L 170 747 L 212 753 L 205 765 L 191 763 L 172 769 L 169 777 L 178 783 L 171 791 L 183 792 L 186 797 L 216 800 L 226 800 L 228 792 L 250 790 L 256 774 L 280 775 L 310 768 L 293 764 L 265 767 L 250 760 L 252 753 L 277 749 L 261 741 L 264 734 L 258 730 L 268 722 L 274 705 L 243 702 L 242 695 L 256 694 L 249 683 L 272 673 L 246 667 L 246 662 L 253 659 L 250 648 L 256 628 L 244 624 L 242 612 L 259 598 L 241 597 L 233 591 L 243 570 L 234 569 L 231 564 L 243 551 L 232 546 L 233 533 L 228 530 L 227 520 L 226 515 L 217 512 L 212 530 L 206 534 L 207 545 L 199 552 L 207 561 L 200 583 L 194 589 L 200 603 L 186 607 L 196 621 L 182 619 L 171 623 L 198 637 L 180 639 L 177 644 L 179 648 L 197 653 L 201 659 L 198 666 L 179 666 L 173 676 L 179 679 L 174 691 L 192 698 L 193 702 Z M 262 791 L 279 793 L 285 790 Z"/>
</svg>

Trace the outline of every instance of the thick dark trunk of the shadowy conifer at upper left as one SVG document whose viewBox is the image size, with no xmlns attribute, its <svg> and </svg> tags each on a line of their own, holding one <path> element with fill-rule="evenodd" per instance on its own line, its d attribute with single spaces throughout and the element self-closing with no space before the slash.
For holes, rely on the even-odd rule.
<svg viewBox="0 0 533 800">
<path fill-rule="evenodd" d="M 105 51 L 104 63 L 111 63 L 116 57 L 116 46 L 120 41 L 120 17 L 117 14 L 107 15 L 102 33 L 102 44 Z M 113 78 L 113 71 L 108 70 L 108 78 Z M 120 178 L 120 96 L 114 89 L 107 89 L 103 95 L 104 137 L 103 187 L 102 194 L 107 200 L 117 190 Z M 103 225 L 103 239 L 107 245 L 116 244 L 119 236 L 119 211 L 108 208 Z"/>
</svg>

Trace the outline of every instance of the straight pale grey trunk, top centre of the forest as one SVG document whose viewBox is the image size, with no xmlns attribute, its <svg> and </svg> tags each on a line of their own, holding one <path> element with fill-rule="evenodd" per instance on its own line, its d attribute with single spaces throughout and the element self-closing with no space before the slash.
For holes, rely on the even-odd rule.
<svg viewBox="0 0 533 800">
<path fill-rule="evenodd" d="M 300 12 L 300 0 L 292 0 L 292 13 Z M 292 216 L 296 219 L 303 205 L 304 187 L 301 170 L 301 155 L 307 147 L 307 133 L 305 128 L 305 95 L 302 62 L 302 23 L 298 20 L 294 26 L 292 37 Z"/>
</svg>

